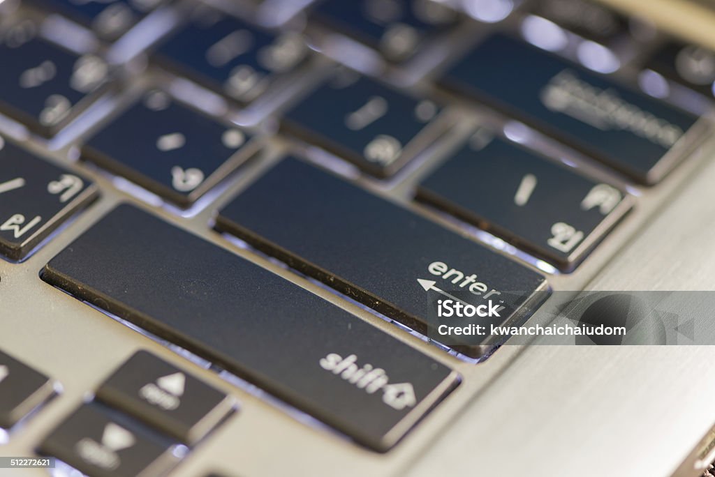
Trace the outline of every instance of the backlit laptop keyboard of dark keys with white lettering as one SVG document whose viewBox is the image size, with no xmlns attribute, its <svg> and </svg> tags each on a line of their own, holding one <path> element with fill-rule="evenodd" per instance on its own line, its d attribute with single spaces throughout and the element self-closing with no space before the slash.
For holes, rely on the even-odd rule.
<svg viewBox="0 0 715 477">
<path fill-rule="evenodd" d="M 37 263 L 48 291 L 389 451 L 457 388 L 456 359 L 502 343 L 442 340 L 430 303 L 495 300 L 503 323 L 523 323 L 706 131 L 709 52 L 661 34 L 646 48 L 631 19 L 586 1 L 507 4 L 8 9 L 0 251 L 30 261 L 66 244 Z M 58 233 L 110 189 L 132 205 L 102 209 L 74 241 Z M 187 226 L 207 209 L 210 241 Z M 0 386 L 21 373 L 0 399 L 9 438 L 56 390 L 0 353 Z M 162 475 L 242 414 L 146 351 L 86 391 L 37 451 L 89 476 Z"/>
</svg>

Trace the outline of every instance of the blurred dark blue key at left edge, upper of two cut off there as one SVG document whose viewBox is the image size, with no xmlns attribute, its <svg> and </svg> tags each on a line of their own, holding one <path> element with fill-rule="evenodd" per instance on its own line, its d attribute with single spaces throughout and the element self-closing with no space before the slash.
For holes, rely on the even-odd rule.
<svg viewBox="0 0 715 477">
<path fill-rule="evenodd" d="M 23 22 L 0 43 L 0 111 L 43 136 L 51 136 L 96 96 L 107 79 L 107 64 L 36 37 Z"/>
</svg>

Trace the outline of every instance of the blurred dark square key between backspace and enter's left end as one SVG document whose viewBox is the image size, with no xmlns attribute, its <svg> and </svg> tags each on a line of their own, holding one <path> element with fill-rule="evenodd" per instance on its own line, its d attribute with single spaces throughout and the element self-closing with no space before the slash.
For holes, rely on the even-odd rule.
<svg viewBox="0 0 715 477">
<path fill-rule="evenodd" d="M 285 126 L 378 177 L 404 166 L 435 136 L 433 101 L 343 71 L 285 114 Z M 434 138 L 431 138 L 434 139 Z"/>
</svg>

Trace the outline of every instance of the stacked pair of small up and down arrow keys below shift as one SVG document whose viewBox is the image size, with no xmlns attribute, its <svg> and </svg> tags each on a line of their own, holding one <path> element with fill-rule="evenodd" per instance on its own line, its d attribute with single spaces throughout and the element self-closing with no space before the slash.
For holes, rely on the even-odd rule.
<svg viewBox="0 0 715 477">
<path fill-rule="evenodd" d="M 39 453 L 88 476 L 162 476 L 235 399 L 147 351 L 134 353 L 51 431 Z"/>
</svg>

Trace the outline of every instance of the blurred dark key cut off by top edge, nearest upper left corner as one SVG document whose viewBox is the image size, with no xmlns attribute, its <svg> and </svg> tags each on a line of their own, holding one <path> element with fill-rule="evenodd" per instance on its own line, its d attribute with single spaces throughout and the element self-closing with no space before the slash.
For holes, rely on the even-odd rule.
<svg viewBox="0 0 715 477">
<path fill-rule="evenodd" d="M 114 40 L 164 0 L 32 0 L 45 9 L 87 26 L 102 39 Z"/>
</svg>

